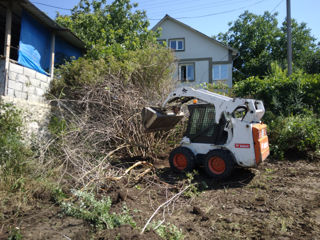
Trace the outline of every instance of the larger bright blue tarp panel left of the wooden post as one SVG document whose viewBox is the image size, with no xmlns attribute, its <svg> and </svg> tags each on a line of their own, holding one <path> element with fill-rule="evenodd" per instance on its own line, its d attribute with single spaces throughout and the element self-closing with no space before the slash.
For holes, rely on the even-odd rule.
<svg viewBox="0 0 320 240">
<path fill-rule="evenodd" d="M 18 63 L 47 74 L 50 65 L 50 39 L 48 29 L 23 12 Z"/>
</svg>

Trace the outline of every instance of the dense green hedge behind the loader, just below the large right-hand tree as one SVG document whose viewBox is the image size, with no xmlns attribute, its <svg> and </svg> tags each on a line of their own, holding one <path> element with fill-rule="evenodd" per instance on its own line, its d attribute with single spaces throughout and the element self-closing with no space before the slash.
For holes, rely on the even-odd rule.
<svg viewBox="0 0 320 240">
<path fill-rule="evenodd" d="M 238 97 L 263 100 L 265 108 L 274 115 L 289 116 L 303 113 L 305 108 L 320 110 L 320 75 L 300 71 L 290 77 L 277 64 L 271 65 L 271 73 L 263 78 L 249 77 L 234 85 Z"/>
</svg>

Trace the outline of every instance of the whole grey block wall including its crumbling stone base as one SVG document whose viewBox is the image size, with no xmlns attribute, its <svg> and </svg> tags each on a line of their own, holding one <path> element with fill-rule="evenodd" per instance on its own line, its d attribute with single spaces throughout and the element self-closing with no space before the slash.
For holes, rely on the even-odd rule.
<svg viewBox="0 0 320 240">
<path fill-rule="evenodd" d="M 0 60 L 0 97 L 3 102 L 13 103 L 22 112 L 27 142 L 43 142 L 49 137 L 48 122 L 51 107 L 44 94 L 51 78 L 16 63 L 9 63 L 8 88 L 5 93 L 4 59 Z"/>
</svg>

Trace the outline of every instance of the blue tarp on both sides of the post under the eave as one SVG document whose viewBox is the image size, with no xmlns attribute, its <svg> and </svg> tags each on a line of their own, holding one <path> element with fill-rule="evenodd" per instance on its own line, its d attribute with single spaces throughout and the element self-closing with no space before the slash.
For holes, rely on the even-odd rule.
<svg viewBox="0 0 320 240">
<path fill-rule="evenodd" d="M 26 12 L 23 12 L 21 17 L 18 63 L 37 72 L 48 74 L 50 47 L 50 31 Z M 56 36 L 55 65 L 63 64 L 65 60 L 68 61 L 73 57 L 77 59 L 81 55 L 80 49 Z"/>
</svg>

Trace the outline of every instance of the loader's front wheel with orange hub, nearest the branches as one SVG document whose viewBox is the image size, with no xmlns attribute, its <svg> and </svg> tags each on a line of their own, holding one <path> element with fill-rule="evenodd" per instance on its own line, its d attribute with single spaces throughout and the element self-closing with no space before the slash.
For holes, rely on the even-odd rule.
<svg viewBox="0 0 320 240">
<path fill-rule="evenodd" d="M 169 163 L 175 172 L 189 172 L 194 169 L 195 156 L 189 148 L 177 147 L 171 151 Z"/>
</svg>

